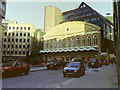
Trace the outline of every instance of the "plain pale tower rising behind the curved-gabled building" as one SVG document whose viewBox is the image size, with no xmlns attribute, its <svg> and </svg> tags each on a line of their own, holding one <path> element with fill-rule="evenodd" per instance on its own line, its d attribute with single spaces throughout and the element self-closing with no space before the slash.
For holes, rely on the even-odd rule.
<svg viewBox="0 0 120 90">
<path fill-rule="evenodd" d="M 62 16 L 61 10 L 54 6 L 45 7 L 44 32 L 59 25 L 59 17 Z"/>
</svg>

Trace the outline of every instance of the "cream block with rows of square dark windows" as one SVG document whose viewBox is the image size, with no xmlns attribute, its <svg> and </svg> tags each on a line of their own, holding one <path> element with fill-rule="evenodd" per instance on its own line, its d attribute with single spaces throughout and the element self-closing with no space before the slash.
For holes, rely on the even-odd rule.
<svg viewBox="0 0 120 90">
<path fill-rule="evenodd" d="M 3 39 L 3 60 L 22 59 L 31 54 L 34 32 L 32 24 L 19 24 L 12 20 L 3 20 L 5 27 Z"/>
</svg>

